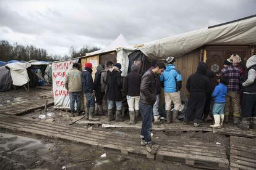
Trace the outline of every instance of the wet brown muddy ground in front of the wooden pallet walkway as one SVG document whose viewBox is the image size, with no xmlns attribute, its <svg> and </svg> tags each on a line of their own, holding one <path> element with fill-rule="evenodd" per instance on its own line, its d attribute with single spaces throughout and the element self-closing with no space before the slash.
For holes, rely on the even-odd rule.
<svg viewBox="0 0 256 170">
<path fill-rule="evenodd" d="M 0 133 L 0 169 L 196 169 L 95 150 L 82 144 Z M 106 153 L 106 157 L 101 155 Z"/>
</svg>

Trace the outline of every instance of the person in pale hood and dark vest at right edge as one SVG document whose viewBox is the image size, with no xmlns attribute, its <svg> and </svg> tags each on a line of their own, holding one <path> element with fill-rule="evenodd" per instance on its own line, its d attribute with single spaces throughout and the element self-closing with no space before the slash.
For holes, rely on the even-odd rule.
<svg viewBox="0 0 256 170">
<path fill-rule="evenodd" d="M 238 126 L 249 129 L 252 125 L 256 129 L 256 55 L 247 60 L 246 67 L 242 83 L 242 122 Z"/>
</svg>

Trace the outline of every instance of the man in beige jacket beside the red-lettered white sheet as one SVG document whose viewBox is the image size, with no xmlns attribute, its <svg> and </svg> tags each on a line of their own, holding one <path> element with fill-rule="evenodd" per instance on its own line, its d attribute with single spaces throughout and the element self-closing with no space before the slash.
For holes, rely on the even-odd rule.
<svg viewBox="0 0 256 170">
<path fill-rule="evenodd" d="M 65 79 L 65 87 L 69 91 L 70 97 L 70 115 L 79 116 L 81 108 L 81 92 L 82 92 L 82 72 L 79 71 L 79 64 L 74 63 L 73 68 L 69 70 Z M 77 102 L 77 111 L 75 112 L 75 101 Z"/>
</svg>

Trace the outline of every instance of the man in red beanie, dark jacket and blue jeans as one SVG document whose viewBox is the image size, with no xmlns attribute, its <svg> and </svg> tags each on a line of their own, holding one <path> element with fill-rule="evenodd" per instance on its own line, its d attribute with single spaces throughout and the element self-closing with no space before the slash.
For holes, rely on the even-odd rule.
<svg viewBox="0 0 256 170">
<path fill-rule="evenodd" d="M 92 63 L 85 63 L 85 70 L 83 70 L 82 75 L 83 82 L 83 93 L 86 98 L 86 108 L 85 108 L 85 118 L 90 121 L 98 121 L 98 118 L 94 118 L 94 107 L 95 107 L 95 97 L 94 97 L 94 84 L 92 79 Z"/>
</svg>

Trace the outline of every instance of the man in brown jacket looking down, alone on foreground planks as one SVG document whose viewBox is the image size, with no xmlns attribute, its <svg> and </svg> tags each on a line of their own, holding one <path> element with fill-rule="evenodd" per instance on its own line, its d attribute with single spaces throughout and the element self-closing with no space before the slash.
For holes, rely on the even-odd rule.
<svg viewBox="0 0 256 170">
<path fill-rule="evenodd" d="M 142 114 L 142 129 L 140 132 L 141 145 L 147 145 L 148 152 L 152 152 L 151 132 L 152 127 L 152 113 L 153 105 L 156 102 L 156 75 L 163 73 L 165 69 L 164 63 L 156 63 L 155 68 L 148 70 L 142 76 L 142 83 L 140 84 L 140 102 L 139 108 Z"/>
</svg>

